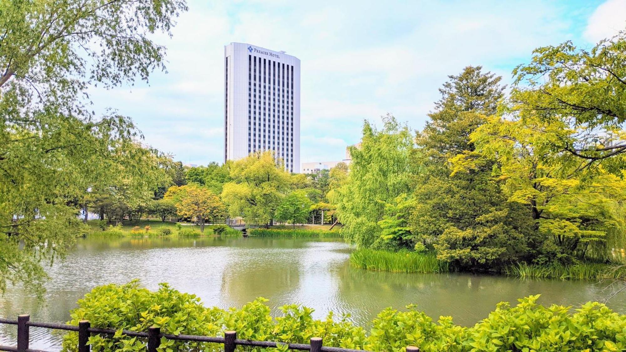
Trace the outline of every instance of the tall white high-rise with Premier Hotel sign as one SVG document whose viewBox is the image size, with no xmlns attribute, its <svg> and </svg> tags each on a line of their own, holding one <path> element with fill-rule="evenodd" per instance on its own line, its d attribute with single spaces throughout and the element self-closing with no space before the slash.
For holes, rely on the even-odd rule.
<svg viewBox="0 0 626 352">
<path fill-rule="evenodd" d="M 273 150 L 300 172 L 300 60 L 244 43 L 224 46 L 225 160 Z"/>
</svg>

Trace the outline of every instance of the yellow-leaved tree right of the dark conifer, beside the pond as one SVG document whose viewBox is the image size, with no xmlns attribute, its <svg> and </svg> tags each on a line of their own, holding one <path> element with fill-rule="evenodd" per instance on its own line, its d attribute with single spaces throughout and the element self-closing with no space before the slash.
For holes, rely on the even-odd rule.
<svg viewBox="0 0 626 352">
<path fill-rule="evenodd" d="M 570 262 L 598 254 L 612 229 L 625 229 L 623 177 L 601 166 L 589 171 L 580 158 L 578 167 L 570 167 L 571 160 L 563 165 L 562 154 L 552 152 L 552 142 L 570 133 L 566 123 L 525 113 L 510 120 L 494 116 L 471 135 L 477 152 L 498 158 L 493 172 L 505 180 L 508 201 L 530 209 L 526 216 L 541 236 L 537 261 Z M 453 163 L 471 170 L 475 154 L 458 155 Z M 607 257 L 606 250 L 600 254 Z"/>
</svg>

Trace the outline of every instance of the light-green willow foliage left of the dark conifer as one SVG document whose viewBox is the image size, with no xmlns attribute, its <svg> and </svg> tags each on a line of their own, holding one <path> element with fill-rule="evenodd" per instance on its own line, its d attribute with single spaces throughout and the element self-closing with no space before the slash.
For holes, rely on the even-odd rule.
<svg viewBox="0 0 626 352">
<path fill-rule="evenodd" d="M 413 135 L 391 115 L 383 121 L 381 130 L 364 123 L 361 147 L 349 148 L 350 173 L 332 195 L 344 237 L 359 247 L 371 246 L 379 237 L 377 222 L 385 204 L 413 189 L 416 169 L 409 161 Z"/>
</svg>

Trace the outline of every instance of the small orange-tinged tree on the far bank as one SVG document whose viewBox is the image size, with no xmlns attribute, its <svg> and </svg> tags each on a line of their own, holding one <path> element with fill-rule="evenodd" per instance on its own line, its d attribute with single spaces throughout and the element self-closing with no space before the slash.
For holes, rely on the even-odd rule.
<svg viewBox="0 0 626 352">
<path fill-rule="evenodd" d="M 193 184 L 178 188 L 180 191 L 177 194 L 177 200 L 175 200 L 177 213 L 182 217 L 195 218 L 200 225 L 200 232 L 204 232 L 206 219 L 211 221 L 226 215 L 226 206 L 220 197 L 213 194 L 209 189 Z M 165 199 L 172 199 L 172 197 Z"/>
</svg>

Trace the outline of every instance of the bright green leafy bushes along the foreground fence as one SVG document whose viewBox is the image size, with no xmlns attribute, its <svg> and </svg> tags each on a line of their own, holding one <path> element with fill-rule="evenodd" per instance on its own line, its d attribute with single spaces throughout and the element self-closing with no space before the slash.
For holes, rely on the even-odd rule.
<svg viewBox="0 0 626 352">
<path fill-rule="evenodd" d="M 425 352 L 464 351 L 622 351 L 626 349 L 626 316 L 602 303 L 589 302 L 575 309 L 536 304 L 539 296 L 519 299 L 516 306 L 499 303 L 486 319 L 472 327 L 455 325 L 451 317 L 438 321 L 407 306 L 407 311 L 387 308 L 368 324 L 369 331 L 329 313 L 312 318 L 313 309 L 287 305 L 273 317 L 267 299 L 258 298 L 242 308 L 205 308 L 193 294 L 184 294 L 168 284 L 158 291 L 141 288 L 137 281 L 96 287 L 78 301 L 69 324 L 82 319 L 96 328 L 118 329 L 115 336 L 94 335 L 94 351 L 143 351 L 145 341 L 128 338 L 121 329 L 146 331 L 159 326 L 163 333 L 223 336 L 237 331 L 241 339 L 308 343 L 319 336 L 324 346 L 369 351 L 404 351 L 418 346 Z M 76 351 L 78 336 L 68 333 L 64 351 Z M 221 344 L 161 340 L 160 351 L 222 351 Z M 238 349 L 239 350 L 239 349 Z M 265 351 L 247 348 L 245 351 Z M 286 351 L 285 346 L 279 349 Z"/>
</svg>

